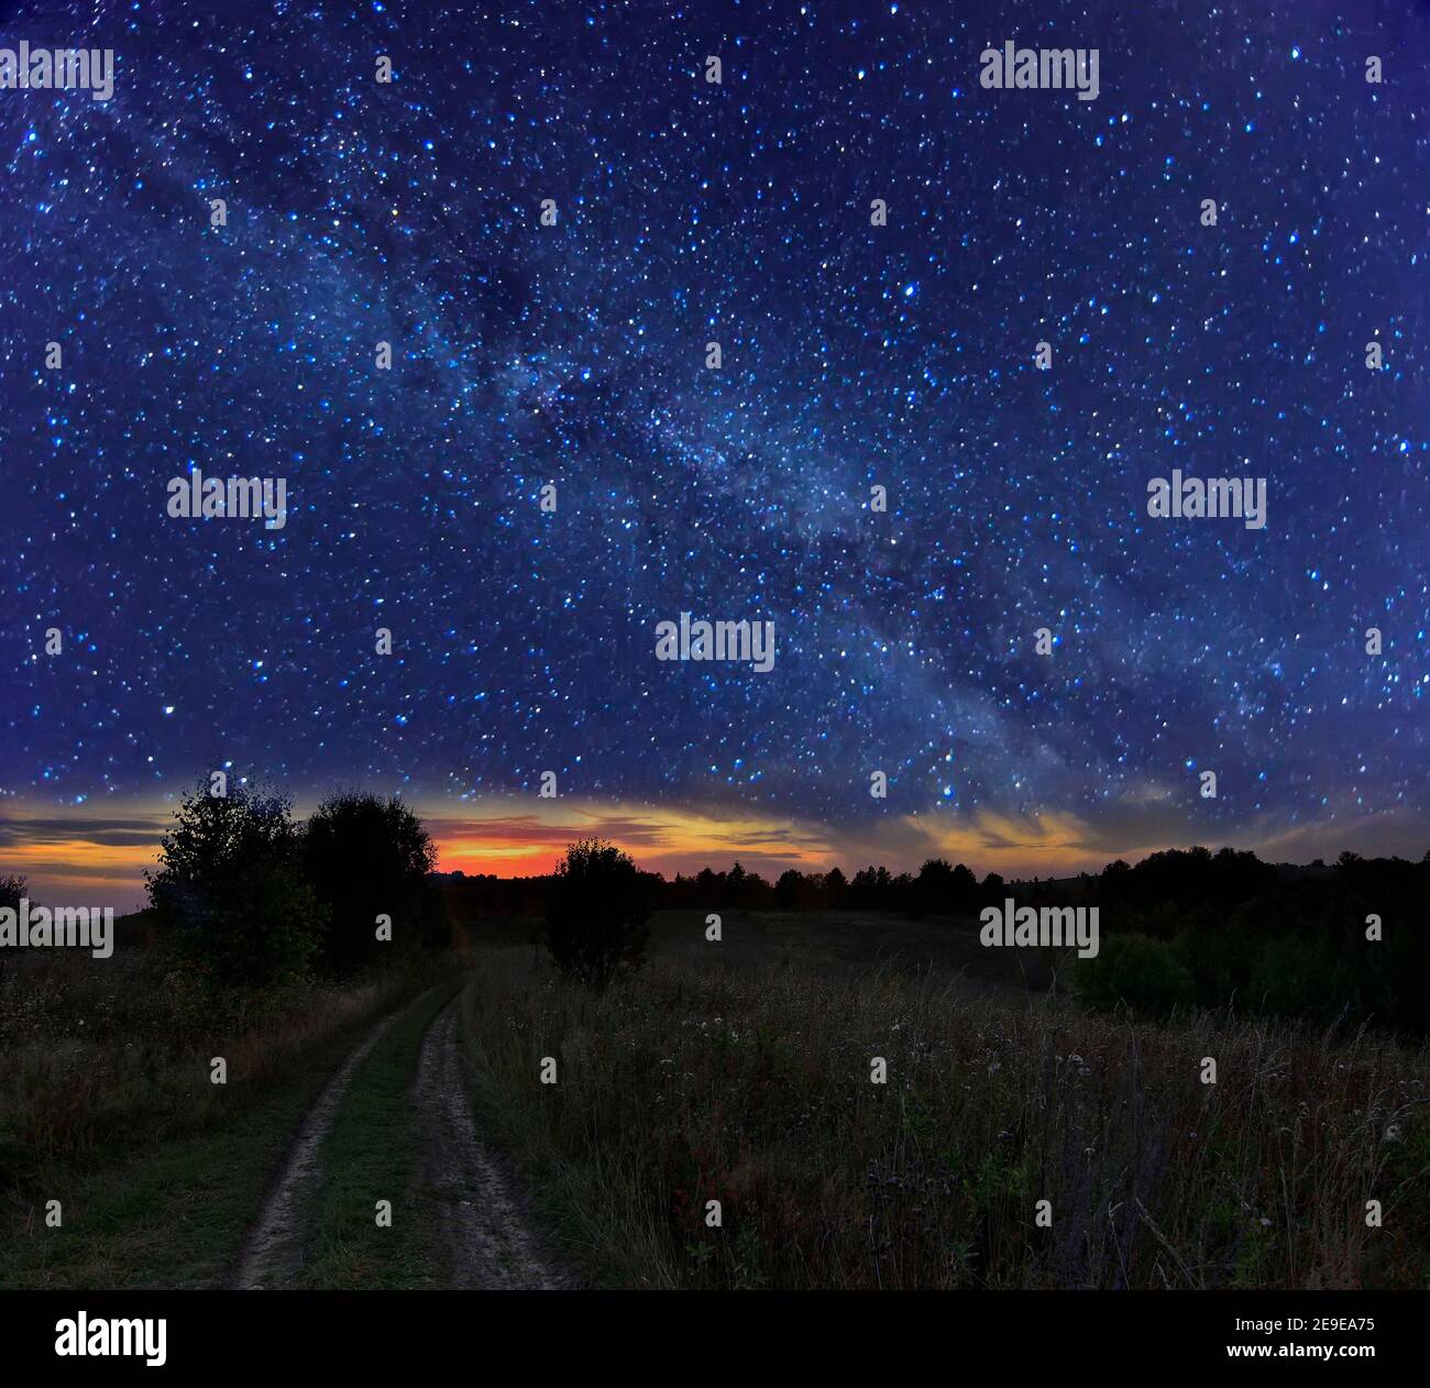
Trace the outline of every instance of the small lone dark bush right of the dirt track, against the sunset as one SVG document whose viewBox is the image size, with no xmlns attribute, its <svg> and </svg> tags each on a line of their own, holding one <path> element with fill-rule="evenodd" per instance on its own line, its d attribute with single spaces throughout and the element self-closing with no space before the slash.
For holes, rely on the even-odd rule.
<svg viewBox="0 0 1430 1388">
<path fill-rule="evenodd" d="M 572 843 L 546 896 L 546 948 L 563 973 L 603 988 L 641 968 L 651 888 L 626 853 L 601 839 Z"/>
</svg>

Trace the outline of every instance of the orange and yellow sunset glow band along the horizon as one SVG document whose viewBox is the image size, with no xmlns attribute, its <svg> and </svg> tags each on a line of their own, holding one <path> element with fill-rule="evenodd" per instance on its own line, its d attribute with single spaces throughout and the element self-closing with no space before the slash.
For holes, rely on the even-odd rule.
<svg viewBox="0 0 1430 1388">
<path fill-rule="evenodd" d="M 436 843 L 442 872 L 541 875 L 552 869 L 568 843 L 602 838 L 631 853 L 641 868 L 666 878 L 728 868 L 736 859 L 769 879 L 786 868 L 811 872 L 835 865 L 847 873 L 871 863 L 895 873 L 917 872 L 924 859 L 942 856 L 965 862 L 980 875 L 998 872 L 1014 879 L 1095 872 L 1114 858 L 1145 856 L 1184 842 L 1184 829 L 1177 832 L 1157 813 L 1157 799 L 1144 793 L 1130 802 L 1115 833 L 1107 828 L 1094 832 L 1072 815 L 1055 813 L 889 815 L 871 823 L 821 825 L 732 806 L 661 808 L 535 796 L 492 796 L 473 805 L 416 802 L 416 808 Z M 310 813 L 315 805 L 300 802 L 296 813 Z M 137 909 L 144 899 L 144 869 L 157 861 L 173 806 L 106 811 L 77 806 L 44 813 L 10 806 L 0 821 L 0 873 L 23 873 L 39 901 Z M 1384 816 L 1341 821 L 1318 831 L 1268 822 L 1233 846 L 1256 848 L 1271 861 L 1304 862 L 1334 858 L 1346 843 L 1371 833 L 1391 851 L 1414 856 L 1423 851 L 1413 826 L 1397 826 Z"/>
</svg>

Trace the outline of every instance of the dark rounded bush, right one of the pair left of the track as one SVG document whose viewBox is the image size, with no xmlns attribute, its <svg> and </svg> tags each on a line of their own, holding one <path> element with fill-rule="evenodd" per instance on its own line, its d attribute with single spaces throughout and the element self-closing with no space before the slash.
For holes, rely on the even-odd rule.
<svg viewBox="0 0 1430 1388">
<path fill-rule="evenodd" d="M 366 792 L 332 795 L 303 829 L 303 871 L 327 908 L 319 962 L 353 973 L 393 945 L 449 942 L 446 908 L 432 876 L 436 849 L 402 800 Z M 392 918 L 393 945 L 378 939 L 378 916 Z"/>
</svg>

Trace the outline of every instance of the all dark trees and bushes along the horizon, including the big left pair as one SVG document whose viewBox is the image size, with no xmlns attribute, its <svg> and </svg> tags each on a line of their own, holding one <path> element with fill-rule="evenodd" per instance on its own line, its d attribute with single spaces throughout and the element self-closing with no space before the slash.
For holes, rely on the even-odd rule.
<svg viewBox="0 0 1430 1388">
<path fill-rule="evenodd" d="M 611 959 L 593 942 L 608 935 L 615 956 L 636 959 L 651 911 L 815 921 L 862 912 L 975 926 L 985 906 L 1011 896 L 1018 906 L 1098 908 L 1098 955 L 1062 973 L 1093 1006 L 1236 1006 L 1430 1033 L 1430 853 L 1290 866 L 1230 848 L 1167 849 L 1031 882 L 980 878 L 942 858 L 917 873 L 789 869 L 771 882 L 736 862 L 666 881 L 595 843 L 572 845 L 559 872 L 531 878 L 438 873 L 435 861 L 428 831 L 396 799 L 336 793 L 297 823 L 280 796 L 240 786 L 216 798 L 200 783 L 147 875 L 144 915 L 182 976 L 255 989 L 442 949 L 453 928 L 483 918 L 545 918 L 553 952 L 601 981 Z M 0 906 L 24 892 L 21 878 L 0 878 Z M 1065 961 L 1044 963 L 1051 978 Z"/>
</svg>

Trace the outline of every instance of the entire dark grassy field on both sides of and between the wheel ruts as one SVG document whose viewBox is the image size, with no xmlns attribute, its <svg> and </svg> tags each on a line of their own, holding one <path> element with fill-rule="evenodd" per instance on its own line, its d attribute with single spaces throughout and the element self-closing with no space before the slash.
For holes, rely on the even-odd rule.
<svg viewBox="0 0 1430 1388">
<path fill-rule="evenodd" d="M 1088 1013 L 1075 965 L 1030 986 L 1048 961 L 971 921 L 722 915 L 718 943 L 705 912 L 656 916 L 605 993 L 511 919 L 426 972 L 217 1011 L 139 945 L 4 961 L 0 1285 L 222 1285 L 388 1013 L 323 1136 L 296 1285 L 446 1285 L 413 1082 L 463 989 L 450 1092 L 585 1285 L 1430 1287 L 1427 1048 Z"/>
</svg>

